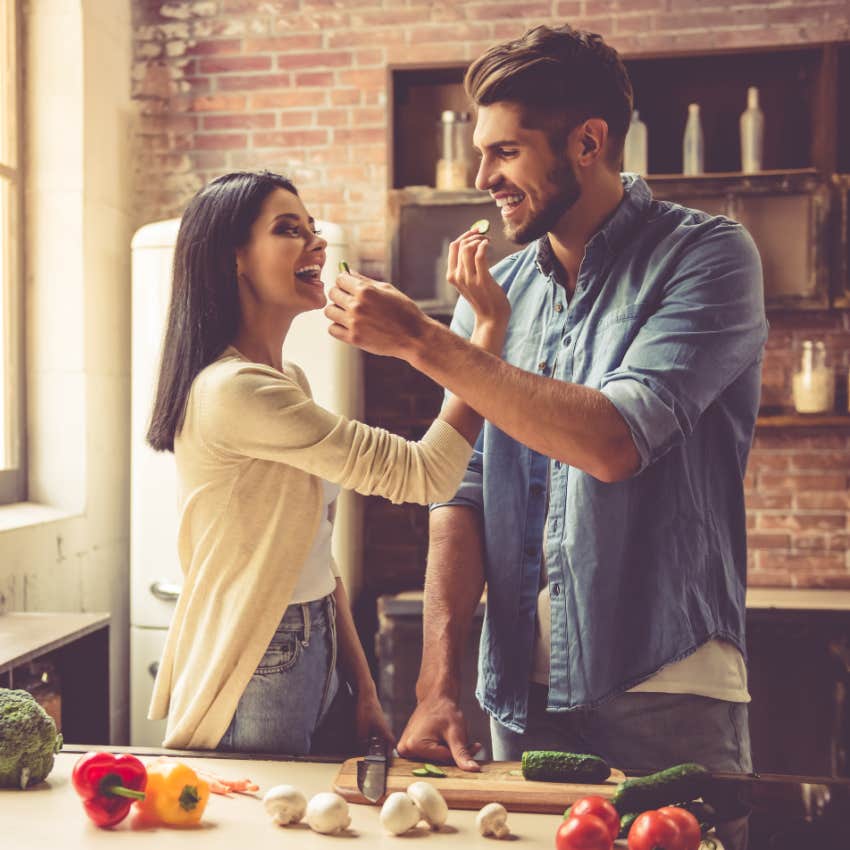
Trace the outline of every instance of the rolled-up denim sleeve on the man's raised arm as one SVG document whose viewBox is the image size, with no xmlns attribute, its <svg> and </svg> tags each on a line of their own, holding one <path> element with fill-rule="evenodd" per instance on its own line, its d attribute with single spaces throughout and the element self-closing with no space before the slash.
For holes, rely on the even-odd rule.
<svg viewBox="0 0 850 850">
<path fill-rule="evenodd" d="M 600 382 L 645 469 L 684 442 L 767 339 L 762 268 L 747 231 L 714 220 L 689 247 L 661 302 Z"/>
</svg>

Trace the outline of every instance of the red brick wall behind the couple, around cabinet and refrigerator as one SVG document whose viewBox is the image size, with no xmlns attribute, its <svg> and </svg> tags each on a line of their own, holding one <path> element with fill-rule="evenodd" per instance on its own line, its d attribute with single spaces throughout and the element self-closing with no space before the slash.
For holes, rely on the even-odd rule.
<svg viewBox="0 0 850 850">
<path fill-rule="evenodd" d="M 383 277 L 387 63 L 468 61 L 528 26 L 564 21 L 627 53 L 850 39 L 846 0 L 134 0 L 137 223 L 179 214 L 226 170 L 272 168 L 295 180 L 313 215 L 345 225 L 361 269 Z M 787 401 L 789 342 L 814 333 L 848 365 L 846 315 L 779 317 L 765 368 L 771 403 Z M 370 422 L 417 436 L 439 399 L 397 361 L 368 358 Z M 756 581 L 850 585 L 848 466 L 838 432 L 758 437 Z M 367 586 L 420 584 L 426 528 L 423 509 L 370 500 Z"/>
</svg>

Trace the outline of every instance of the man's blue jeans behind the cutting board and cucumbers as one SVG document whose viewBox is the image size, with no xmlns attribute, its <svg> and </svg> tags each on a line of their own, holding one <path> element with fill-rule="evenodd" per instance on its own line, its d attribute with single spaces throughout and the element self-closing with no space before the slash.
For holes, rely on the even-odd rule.
<svg viewBox="0 0 850 850">
<path fill-rule="evenodd" d="M 638 692 L 596 708 L 547 712 L 546 691 L 531 683 L 523 734 L 490 718 L 495 759 L 519 761 L 524 750 L 564 750 L 594 753 L 627 774 L 689 761 L 713 771 L 752 772 L 746 703 Z"/>
</svg>

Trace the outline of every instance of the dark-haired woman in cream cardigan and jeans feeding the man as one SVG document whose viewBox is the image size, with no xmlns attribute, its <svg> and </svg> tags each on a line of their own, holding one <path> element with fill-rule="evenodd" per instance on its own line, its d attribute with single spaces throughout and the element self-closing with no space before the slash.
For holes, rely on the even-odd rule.
<svg viewBox="0 0 850 850">
<path fill-rule="evenodd" d="M 292 183 L 268 172 L 213 180 L 180 224 L 148 432 L 174 452 L 181 510 L 184 584 L 150 711 L 168 716 L 168 747 L 310 752 L 340 688 L 337 651 L 358 737 L 392 739 L 331 558 L 329 511 L 339 487 L 449 498 L 481 420 L 452 398 L 408 442 L 312 401 L 282 349 L 293 318 L 325 304 L 326 244 Z M 486 244 L 458 240 L 455 276 L 476 309 L 474 341 L 499 353 L 510 308 L 475 273 Z"/>
</svg>

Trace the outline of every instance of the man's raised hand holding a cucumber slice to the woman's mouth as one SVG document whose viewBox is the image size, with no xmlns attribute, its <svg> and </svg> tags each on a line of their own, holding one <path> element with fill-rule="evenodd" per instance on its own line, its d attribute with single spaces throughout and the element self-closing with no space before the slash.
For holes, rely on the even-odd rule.
<svg viewBox="0 0 850 850">
<path fill-rule="evenodd" d="M 429 319 L 392 284 L 343 273 L 328 293 L 331 336 L 372 354 L 408 359 Z"/>
</svg>

